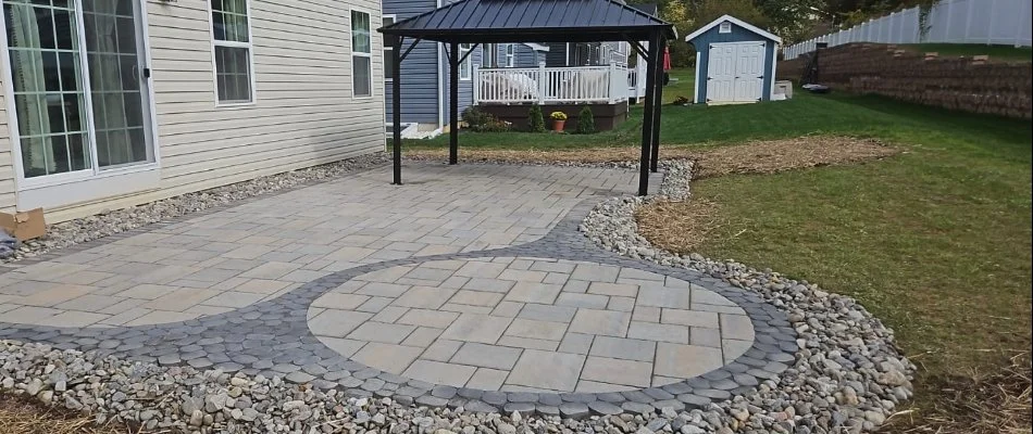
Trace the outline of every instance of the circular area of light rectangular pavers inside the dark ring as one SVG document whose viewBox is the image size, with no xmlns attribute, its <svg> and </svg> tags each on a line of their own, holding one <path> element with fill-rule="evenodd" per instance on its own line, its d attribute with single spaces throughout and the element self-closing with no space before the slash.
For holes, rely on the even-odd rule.
<svg viewBox="0 0 1033 434">
<path fill-rule="evenodd" d="M 531 257 L 434 260 L 361 275 L 316 298 L 329 348 L 432 384 L 502 392 L 659 387 L 754 344 L 746 311 L 661 275 Z"/>
</svg>

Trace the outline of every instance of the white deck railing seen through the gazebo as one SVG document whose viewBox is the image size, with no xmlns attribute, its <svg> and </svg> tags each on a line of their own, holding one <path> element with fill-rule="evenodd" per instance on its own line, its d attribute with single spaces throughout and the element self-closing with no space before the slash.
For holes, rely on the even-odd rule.
<svg viewBox="0 0 1033 434">
<path fill-rule="evenodd" d="M 627 68 L 608 66 L 478 68 L 474 65 L 474 104 L 560 104 L 627 101 Z"/>
</svg>

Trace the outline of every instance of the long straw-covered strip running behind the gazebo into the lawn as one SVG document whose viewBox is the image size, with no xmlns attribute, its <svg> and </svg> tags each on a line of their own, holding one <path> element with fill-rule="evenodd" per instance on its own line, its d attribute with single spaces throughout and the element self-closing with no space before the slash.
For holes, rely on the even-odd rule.
<svg viewBox="0 0 1033 434">
<path fill-rule="evenodd" d="M 696 162 L 696 178 L 729 174 L 772 174 L 776 171 L 857 163 L 894 155 L 898 150 L 874 140 L 836 136 L 808 136 L 796 139 L 751 141 L 731 146 L 663 146 L 661 161 L 688 158 Z M 444 159 L 447 150 L 409 150 L 414 159 Z M 588 148 L 575 150 L 460 150 L 465 162 L 495 163 L 614 163 L 635 162 L 636 148 Z"/>
</svg>

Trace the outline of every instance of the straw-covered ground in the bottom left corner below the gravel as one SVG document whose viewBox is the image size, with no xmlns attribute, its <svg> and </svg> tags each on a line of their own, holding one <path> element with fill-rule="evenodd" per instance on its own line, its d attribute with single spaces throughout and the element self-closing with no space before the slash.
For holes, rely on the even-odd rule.
<svg viewBox="0 0 1033 434">
<path fill-rule="evenodd" d="M 0 433 L 18 434 L 130 434 L 127 425 L 97 425 L 92 418 L 71 410 L 48 408 L 22 396 L 0 394 Z"/>
</svg>

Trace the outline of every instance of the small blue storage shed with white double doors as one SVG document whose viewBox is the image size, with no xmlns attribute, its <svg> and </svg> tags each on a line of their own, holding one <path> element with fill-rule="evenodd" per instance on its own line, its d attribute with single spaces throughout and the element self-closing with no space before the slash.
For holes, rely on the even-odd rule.
<svg viewBox="0 0 1033 434">
<path fill-rule="evenodd" d="M 696 47 L 695 103 L 771 100 L 782 38 L 731 15 L 685 37 Z"/>
</svg>

